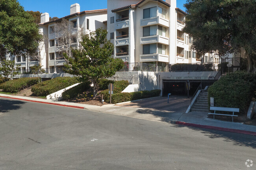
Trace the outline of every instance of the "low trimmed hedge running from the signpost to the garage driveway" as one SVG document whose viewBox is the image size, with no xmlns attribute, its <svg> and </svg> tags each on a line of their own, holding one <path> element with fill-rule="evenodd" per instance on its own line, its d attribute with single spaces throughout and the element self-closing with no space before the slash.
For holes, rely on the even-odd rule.
<svg viewBox="0 0 256 170">
<path fill-rule="evenodd" d="M 150 90 L 150 91 L 137 91 L 132 93 L 114 93 L 111 95 L 111 103 L 121 103 L 121 102 L 127 102 L 127 101 L 134 101 L 137 99 L 143 99 L 148 97 L 157 97 L 161 93 L 161 90 Z M 104 101 L 109 103 L 109 94 L 108 90 L 101 91 L 100 94 L 104 95 Z"/>
</svg>

